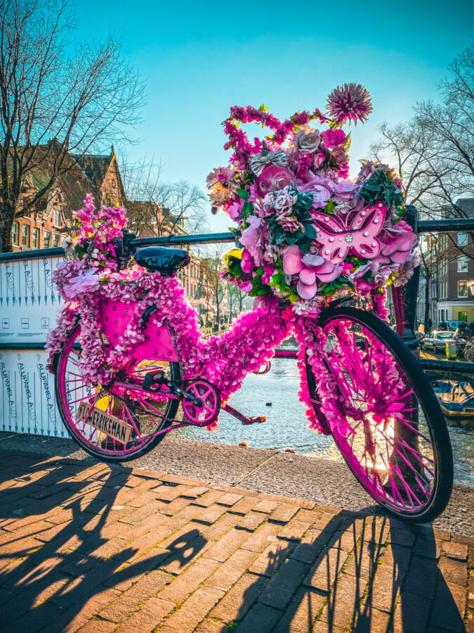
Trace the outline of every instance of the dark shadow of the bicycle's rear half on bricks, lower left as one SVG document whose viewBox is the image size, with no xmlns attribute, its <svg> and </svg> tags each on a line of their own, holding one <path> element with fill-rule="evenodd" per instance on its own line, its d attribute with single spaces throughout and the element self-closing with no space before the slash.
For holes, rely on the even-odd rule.
<svg viewBox="0 0 474 633">
<path fill-rule="evenodd" d="M 6 475 L 15 478 L 15 473 L 21 473 L 18 480 L 25 485 L 19 489 L 20 498 L 15 491 L 1 492 L 0 525 L 6 530 L 1 533 L 0 542 L 2 633 L 67 631 L 70 622 L 87 608 L 89 600 L 96 601 L 98 610 L 101 596 L 107 594 L 105 606 L 119 594 L 113 587 L 127 589 L 161 565 L 172 565 L 173 571 L 179 573 L 206 545 L 206 539 L 190 525 L 189 530 L 180 533 L 166 548 L 157 548 L 156 553 L 151 549 L 138 558 L 143 551 L 133 541 L 128 542 L 133 539 L 133 525 L 122 524 L 124 528 L 131 528 L 123 538 L 119 534 L 107 535 L 107 527 L 117 525 L 114 516 L 117 498 L 126 490 L 131 468 L 118 466 L 108 470 L 105 467 L 103 477 L 98 480 L 86 476 L 86 469 L 94 465 L 97 463 L 87 462 L 72 468 L 63 459 L 53 459 L 47 462 L 46 467 L 51 470 L 45 473 L 42 473 L 44 462 L 33 462 L 27 475 L 24 467 L 17 469 L 15 464 Z M 74 477 L 72 471 L 77 479 L 65 482 Z M 38 501 L 31 495 L 37 494 L 39 489 L 47 493 L 47 497 Z M 55 525 L 56 518 L 51 513 L 46 518 L 53 523 L 42 520 L 42 516 L 57 506 L 66 510 L 67 520 Z M 131 513 L 136 510 L 130 507 Z M 152 509 L 150 515 L 156 513 Z M 167 518 L 171 519 L 166 516 L 165 520 Z M 18 527 L 13 526 L 14 521 L 19 522 Z M 140 525 L 137 531 L 138 528 Z M 145 536 L 148 534 L 145 532 Z M 169 582 L 165 572 L 155 574 L 157 580 L 161 574 L 164 583 Z M 138 599 L 137 608 L 142 601 Z"/>
</svg>

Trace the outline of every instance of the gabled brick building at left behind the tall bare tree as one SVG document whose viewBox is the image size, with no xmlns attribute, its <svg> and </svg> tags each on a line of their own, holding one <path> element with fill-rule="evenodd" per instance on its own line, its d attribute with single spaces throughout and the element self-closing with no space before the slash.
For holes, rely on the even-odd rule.
<svg viewBox="0 0 474 633">
<path fill-rule="evenodd" d="M 74 224 L 74 212 L 81 208 L 86 193 L 93 193 L 98 203 L 116 205 L 125 202 L 119 165 L 114 148 L 110 154 L 70 154 L 71 170 L 39 200 L 34 210 L 13 223 L 13 251 L 54 248 L 61 245 L 62 235 Z M 23 188 L 20 203 L 34 196 L 51 175 L 46 166 L 34 170 Z"/>
</svg>

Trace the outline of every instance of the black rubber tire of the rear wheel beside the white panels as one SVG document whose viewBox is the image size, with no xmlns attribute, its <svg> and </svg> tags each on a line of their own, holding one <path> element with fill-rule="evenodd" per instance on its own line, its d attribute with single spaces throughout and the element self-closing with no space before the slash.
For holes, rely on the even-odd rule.
<svg viewBox="0 0 474 633">
<path fill-rule="evenodd" d="M 74 442 L 76 442 L 77 445 L 81 447 L 81 449 L 84 449 L 89 455 L 95 457 L 99 461 L 119 463 L 130 461 L 132 459 L 137 459 L 138 457 L 147 454 L 164 439 L 166 433 L 159 433 L 159 431 L 171 425 L 171 420 L 176 416 L 176 412 L 178 411 L 179 401 L 174 399 L 168 400 L 166 404 L 166 409 L 163 414 L 162 424 L 156 429 L 155 433 L 148 436 L 147 439 L 139 446 L 137 445 L 136 450 L 130 449 L 130 451 L 127 453 L 114 454 L 110 451 L 110 449 L 94 447 L 91 442 L 88 442 L 88 440 L 86 440 L 83 435 L 81 435 L 77 426 L 74 425 L 69 407 L 67 407 L 67 410 L 65 408 L 65 404 L 70 404 L 67 403 L 67 398 L 65 399 L 65 393 L 67 391 L 65 389 L 65 371 L 67 368 L 67 359 L 70 357 L 70 354 L 74 347 L 74 341 L 77 339 L 79 334 L 80 326 L 77 326 L 77 328 L 75 328 L 72 332 L 70 338 L 65 343 L 62 352 L 58 354 L 58 358 L 55 362 L 55 396 L 62 423 L 67 428 L 67 431 L 72 437 L 72 440 L 74 440 Z M 77 369 L 76 371 L 80 371 L 80 369 Z M 169 371 L 172 381 L 180 380 L 180 366 L 178 362 L 170 362 Z"/>
</svg>

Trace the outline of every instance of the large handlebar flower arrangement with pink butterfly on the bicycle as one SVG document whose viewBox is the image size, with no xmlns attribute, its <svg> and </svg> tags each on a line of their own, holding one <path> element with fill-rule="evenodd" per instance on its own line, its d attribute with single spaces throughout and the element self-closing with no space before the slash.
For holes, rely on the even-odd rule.
<svg viewBox="0 0 474 633">
<path fill-rule="evenodd" d="M 225 276 L 251 296 L 288 300 L 296 312 L 317 312 L 349 292 L 400 286 L 419 264 L 394 170 L 362 161 L 348 178 L 350 134 L 341 126 L 365 120 L 369 94 L 345 84 L 329 95 L 327 110 L 280 122 L 264 106 L 231 108 L 224 122 L 229 165 L 207 179 L 213 204 L 237 223 Z M 272 134 L 251 143 L 239 127 L 249 122 Z"/>
</svg>

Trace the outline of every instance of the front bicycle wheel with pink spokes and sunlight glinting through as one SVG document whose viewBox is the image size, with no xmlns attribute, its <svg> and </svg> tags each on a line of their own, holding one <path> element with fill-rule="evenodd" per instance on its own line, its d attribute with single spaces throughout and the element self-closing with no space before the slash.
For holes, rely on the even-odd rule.
<svg viewBox="0 0 474 633">
<path fill-rule="evenodd" d="M 370 312 L 327 309 L 318 326 L 326 376 L 314 376 L 308 363 L 308 384 L 345 462 L 389 513 L 433 520 L 449 501 L 453 459 L 428 378 L 400 337 Z M 317 386 L 328 380 L 335 392 L 320 397 Z"/>
</svg>

